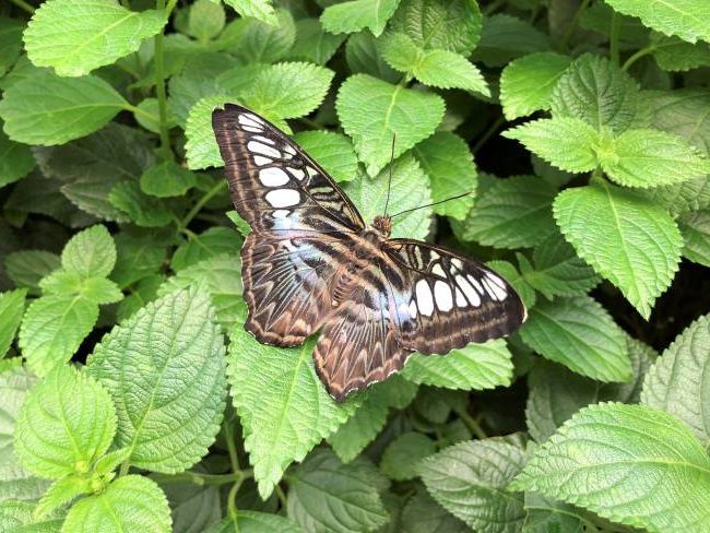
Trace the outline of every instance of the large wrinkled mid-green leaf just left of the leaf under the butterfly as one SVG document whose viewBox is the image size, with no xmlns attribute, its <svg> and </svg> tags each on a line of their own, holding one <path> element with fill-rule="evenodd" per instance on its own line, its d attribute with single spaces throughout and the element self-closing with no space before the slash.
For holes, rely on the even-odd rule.
<svg viewBox="0 0 710 533">
<path fill-rule="evenodd" d="M 214 441 L 225 402 L 224 345 L 206 294 L 177 292 L 115 327 L 86 362 L 118 413 L 131 464 L 181 472 Z M 130 376 L 130 378 L 128 378 Z"/>
</svg>

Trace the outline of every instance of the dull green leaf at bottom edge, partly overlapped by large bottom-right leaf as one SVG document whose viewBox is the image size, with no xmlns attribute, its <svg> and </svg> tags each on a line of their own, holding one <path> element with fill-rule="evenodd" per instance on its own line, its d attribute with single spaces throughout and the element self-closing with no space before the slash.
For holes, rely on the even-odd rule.
<svg viewBox="0 0 710 533">
<path fill-rule="evenodd" d="M 522 496 L 506 486 L 522 470 L 524 452 L 502 439 L 470 440 L 419 463 L 434 499 L 476 531 L 518 531 L 525 518 Z"/>
</svg>

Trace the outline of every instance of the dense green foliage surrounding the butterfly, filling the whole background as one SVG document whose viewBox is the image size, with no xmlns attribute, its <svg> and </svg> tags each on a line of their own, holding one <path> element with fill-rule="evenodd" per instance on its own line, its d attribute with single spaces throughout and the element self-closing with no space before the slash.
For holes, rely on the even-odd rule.
<svg viewBox="0 0 710 533">
<path fill-rule="evenodd" d="M 0 530 L 710 530 L 709 69 L 707 0 L 2 2 Z M 336 403 L 244 330 L 227 102 L 525 324 Z"/>
</svg>

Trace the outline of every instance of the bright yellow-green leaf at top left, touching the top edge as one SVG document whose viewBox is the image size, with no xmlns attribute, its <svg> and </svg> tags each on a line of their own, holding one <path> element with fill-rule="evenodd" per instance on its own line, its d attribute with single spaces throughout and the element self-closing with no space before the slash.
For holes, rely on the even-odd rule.
<svg viewBox="0 0 710 533">
<path fill-rule="evenodd" d="M 115 0 L 48 0 L 27 25 L 25 49 L 37 67 L 83 75 L 138 50 L 166 22 L 165 11 L 129 11 Z"/>
</svg>

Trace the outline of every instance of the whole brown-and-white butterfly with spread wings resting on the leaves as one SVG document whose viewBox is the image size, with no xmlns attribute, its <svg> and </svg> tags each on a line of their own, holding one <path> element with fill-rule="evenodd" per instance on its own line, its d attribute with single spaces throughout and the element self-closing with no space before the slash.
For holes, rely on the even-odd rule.
<svg viewBox="0 0 710 533">
<path fill-rule="evenodd" d="M 241 249 L 245 323 L 259 342 L 297 346 L 317 331 L 316 371 L 339 402 L 407 357 L 513 332 L 525 308 L 500 275 L 453 250 L 366 225 L 297 144 L 227 104 L 212 126 L 229 192 L 251 226 Z"/>
</svg>

